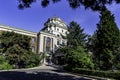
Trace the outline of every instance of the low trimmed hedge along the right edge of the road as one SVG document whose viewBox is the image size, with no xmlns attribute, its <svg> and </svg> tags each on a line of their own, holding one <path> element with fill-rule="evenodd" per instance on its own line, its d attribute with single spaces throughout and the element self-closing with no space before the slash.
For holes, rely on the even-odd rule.
<svg viewBox="0 0 120 80">
<path fill-rule="evenodd" d="M 71 70 L 68 68 L 65 68 L 65 70 L 69 70 L 73 73 L 78 73 L 78 74 L 85 74 L 85 75 L 98 76 L 98 77 L 104 77 L 104 78 L 114 78 L 117 80 L 120 79 L 120 72 L 88 70 L 88 69 L 82 69 L 82 68 L 73 68 Z"/>
</svg>

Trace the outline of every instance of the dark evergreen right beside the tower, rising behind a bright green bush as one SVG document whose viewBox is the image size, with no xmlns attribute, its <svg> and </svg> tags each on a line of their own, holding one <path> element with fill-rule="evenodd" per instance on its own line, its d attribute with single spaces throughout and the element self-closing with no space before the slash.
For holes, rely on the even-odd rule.
<svg viewBox="0 0 120 80">
<path fill-rule="evenodd" d="M 68 26 L 69 33 L 67 34 L 68 46 L 76 48 L 77 46 L 85 47 L 87 34 L 84 33 L 84 29 L 79 24 L 72 21 Z"/>
</svg>

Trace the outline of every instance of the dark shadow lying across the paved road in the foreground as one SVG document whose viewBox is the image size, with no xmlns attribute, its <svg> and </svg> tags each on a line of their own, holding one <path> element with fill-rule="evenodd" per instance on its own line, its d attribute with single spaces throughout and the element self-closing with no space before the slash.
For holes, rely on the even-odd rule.
<svg viewBox="0 0 120 80">
<path fill-rule="evenodd" d="M 60 75 L 51 72 L 20 72 L 20 71 L 4 71 L 0 72 L 0 80 L 88 80 L 84 78 L 76 78 L 69 75 Z"/>
</svg>

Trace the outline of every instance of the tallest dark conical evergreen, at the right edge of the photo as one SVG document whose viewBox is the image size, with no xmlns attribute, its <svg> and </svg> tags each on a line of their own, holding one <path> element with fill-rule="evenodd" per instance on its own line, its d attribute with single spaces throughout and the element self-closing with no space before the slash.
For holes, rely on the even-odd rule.
<svg viewBox="0 0 120 80">
<path fill-rule="evenodd" d="M 114 15 L 104 9 L 100 12 L 100 22 L 94 35 L 94 59 L 101 69 L 111 69 L 119 61 L 120 32 L 115 23 Z"/>
</svg>

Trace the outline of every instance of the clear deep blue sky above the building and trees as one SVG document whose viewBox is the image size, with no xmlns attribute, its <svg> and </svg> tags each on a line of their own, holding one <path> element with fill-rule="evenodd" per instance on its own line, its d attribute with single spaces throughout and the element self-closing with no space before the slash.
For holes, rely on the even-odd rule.
<svg viewBox="0 0 120 80">
<path fill-rule="evenodd" d="M 40 3 L 33 3 L 31 8 L 19 10 L 18 0 L 0 0 L 0 24 L 12 26 L 32 32 L 39 32 L 48 18 L 53 16 L 61 18 L 67 25 L 71 21 L 76 21 L 85 33 L 92 35 L 96 30 L 100 14 L 83 7 L 72 9 L 66 0 L 53 4 L 46 8 Z M 115 22 L 120 29 L 120 4 L 108 5 L 107 8 L 114 14 Z"/>
</svg>

